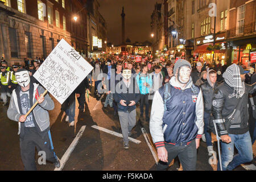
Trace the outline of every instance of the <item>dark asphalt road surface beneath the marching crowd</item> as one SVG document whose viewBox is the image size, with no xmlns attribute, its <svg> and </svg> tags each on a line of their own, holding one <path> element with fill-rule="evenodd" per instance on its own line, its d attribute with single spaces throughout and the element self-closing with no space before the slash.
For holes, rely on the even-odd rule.
<svg viewBox="0 0 256 182">
<path fill-rule="evenodd" d="M 93 88 L 90 90 L 93 93 Z M 68 150 L 69 146 L 79 133 L 82 126 L 85 126 L 76 146 L 73 147 L 67 162 L 63 167 L 63 171 L 154 171 L 156 169 L 156 159 L 154 158 L 155 148 L 152 145 L 148 123 L 141 122 L 137 117 L 137 125 L 132 131 L 131 138 L 141 141 L 141 143 L 130 142 L 128 150 L 123 148 L 122 138 L 105 131 L 97 130 L 92 126 L 103 127 L 121 133 L 118 117 L 114 115 L 114 109 L 108 106 L 107 109 L 102 109 L 102 102 L 105 101 L 105 96 L 95 98 L 90 94 L 89 102 L 86 98 L 84 112 L 77 109 L 76 103 L 76 131 L 75 127 L 69 127 L 65 122 L 65 113 L 61 111 L 60 104 L 55 101 L 55 109 L 50 111 L 51 118 L 51 135 L 53 146 L 56 155 L 59 159 Z M 0 106 L 0 170 L 23 170 L 22 160 L 19 150 L 18 123 L 10 121 L 7 118 L 7 106 Z M 139 116 L 139 108 L 137 108 L 137 116 Z M 144 138 L 142 128 L 146 130 L 148 142 Z M 213 140 L 216 138 L 213 136 Z M 151 146 L 152 151 L 150 150 Z M 214 142 L 214 150 L 217 151 L 217 142 Z M 254 145 L 254 155 L 256 148 Z M 40 171 L 52 171 L 54 165 L 47 163 L 46 165 L 38 164 L 37 152 L 35 161 L 37 168 Z M 217 165 L 210 165 L 205 142 L 200 142 L 200 147 L 197 150 L 197 170 L 198 171 L 213 171 L 217 169 Z M 177 171 L 180 168 L 179 161 L 175 159 L 168 170 Z M 239 166 L 235 170 L 245 170 Z"/>
</svg>

